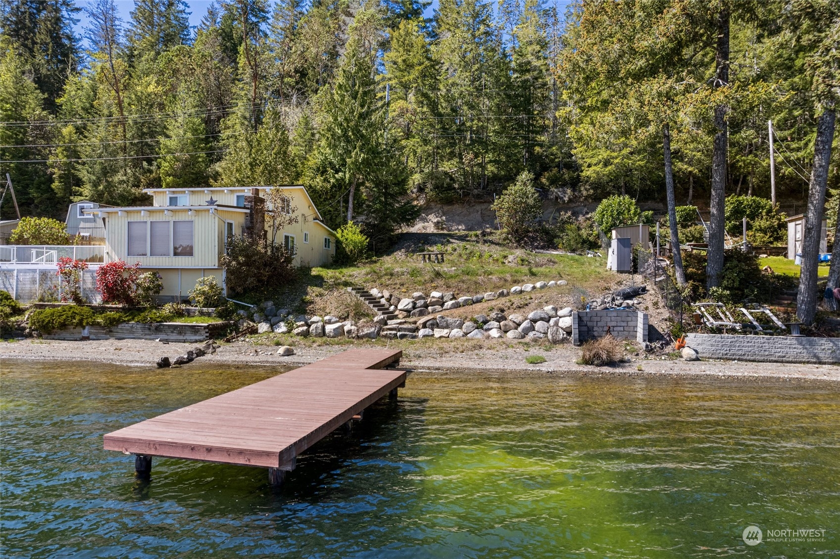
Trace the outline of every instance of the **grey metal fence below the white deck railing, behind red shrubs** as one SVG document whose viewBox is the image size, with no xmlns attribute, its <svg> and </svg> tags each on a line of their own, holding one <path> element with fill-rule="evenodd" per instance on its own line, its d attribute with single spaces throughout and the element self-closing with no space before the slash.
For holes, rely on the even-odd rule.
<svg viewBox="0 0 840 559">
<path fill-rule="evenodd" d="M 21 303 L 61 300 L 62 290 L 55 268 L 0 269 L 0 290 Z M 81 270 L 81 297 L 88 303 L 101 303 L 97 291 L 97 270 Z"/>
</svg>

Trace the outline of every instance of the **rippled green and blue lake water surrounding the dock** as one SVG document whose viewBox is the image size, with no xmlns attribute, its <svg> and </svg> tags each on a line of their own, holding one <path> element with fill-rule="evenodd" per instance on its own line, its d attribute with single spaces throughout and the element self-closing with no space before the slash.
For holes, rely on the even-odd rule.
<svg viewBox="0 0 840 559">
<path fill-rule="evenodd" d="M 102 435 L 276 371 L 2 368 L 4 557 L 840 554 L 836 385 L 412 374 L 275 490 L 158 458 L 137 482 Z"/>
</svg>

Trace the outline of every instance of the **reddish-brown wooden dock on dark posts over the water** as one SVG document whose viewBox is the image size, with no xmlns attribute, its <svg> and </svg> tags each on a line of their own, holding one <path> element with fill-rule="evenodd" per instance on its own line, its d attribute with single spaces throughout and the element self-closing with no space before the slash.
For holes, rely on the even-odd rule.
<svg viewBox="0 0 840 559">
<path fill-rule="evenodd" d="M 402 351 L 351 349 L 105 436 L 105 450 L 134 454 L 148 478 L 151 457 L 269 468 L 281 483 L 296 457 L 405 385 Z"/>
</svg>

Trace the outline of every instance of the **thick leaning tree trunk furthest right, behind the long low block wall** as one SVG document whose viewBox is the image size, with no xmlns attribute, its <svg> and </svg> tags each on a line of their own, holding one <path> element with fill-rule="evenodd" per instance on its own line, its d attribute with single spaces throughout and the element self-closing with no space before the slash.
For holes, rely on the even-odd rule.
<svg viewBox="0 0 840 559">
<path fill-rule="evenodd" d="M 822 232 L 822 206 L 826 202 L 828 164 L 832 157 L 834 138 L 834 104 L 825 107 L 816 123 L 814 140 L 814 166 L 811 184 L 808 185 L 808 206 L 805 212 L 805 231 L 802 235 L 802 266 L 799 276 L 799 294 L 796 295 L 796 316 L 803 324 L 811 326 L 816 315 L 816 272 L 819 264 L 820 233 Z"/>
</svg>

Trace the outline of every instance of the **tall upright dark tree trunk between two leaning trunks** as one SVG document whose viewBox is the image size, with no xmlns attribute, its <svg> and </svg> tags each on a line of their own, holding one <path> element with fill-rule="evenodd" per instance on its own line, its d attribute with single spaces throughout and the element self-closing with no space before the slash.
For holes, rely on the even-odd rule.
<svg viewBox="0 0 840 559">
<path fill-rule="evenodd" d="M 717 48 L 715 50 L 715 89 L 729 83 L 729 8 L 724 4 L 717 16 Z M 711 217 L 709 217 L 709 250 L 706 261 L 706 287 L 721 284 L 724 248 L 724 199 L 727 185 L 727 107 L 715 107 L 714 147 L 711 152 Z"/>
</svg>

